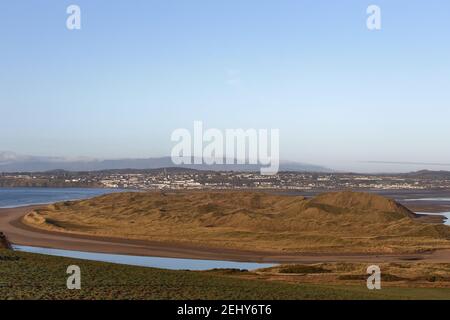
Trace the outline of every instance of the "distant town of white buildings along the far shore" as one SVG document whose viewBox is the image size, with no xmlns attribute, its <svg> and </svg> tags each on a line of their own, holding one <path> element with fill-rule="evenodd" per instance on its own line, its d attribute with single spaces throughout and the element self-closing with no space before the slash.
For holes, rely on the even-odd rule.
<svg viewBox="0 0 450 320">
<path fill-rule="evenodd" d="M 450 189 L 450 172 L 403 174 L 199 171 L 183 168 L 0 173 L 0 187 L 96 187 L 140 190 L 267 189 L 267 190 L 430 190 Z"/>
</svg>

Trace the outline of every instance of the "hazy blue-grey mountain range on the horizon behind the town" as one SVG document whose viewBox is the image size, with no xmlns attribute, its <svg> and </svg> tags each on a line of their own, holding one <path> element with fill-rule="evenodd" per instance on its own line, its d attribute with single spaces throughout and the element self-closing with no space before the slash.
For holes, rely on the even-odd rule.
<svg viewBox="0 0 450 320">
<path fill-rule="evenodd" d="M 100 160 L 93 158 L 28 156 L 14 152 L 0 152 L 0 172 L 100 171 L 173 167 L 211 171 L 259 171 L 261 168 L 260 165 L 251 164 L 175 165 L 170 157 Z M 279 171 L 333 172 L 333 170 L 326 167 L 293 161 L 281 161 Z"/>
</svg>

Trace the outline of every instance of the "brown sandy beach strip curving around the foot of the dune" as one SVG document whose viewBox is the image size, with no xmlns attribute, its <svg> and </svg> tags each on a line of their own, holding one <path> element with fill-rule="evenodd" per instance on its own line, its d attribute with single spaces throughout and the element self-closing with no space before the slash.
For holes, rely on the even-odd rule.
<svg viewBox="0 0 450 320">
<path fill-rule="evenodd" d="M 450 263 L 450 250 L 410 255 L 367 254 L 294 254 L 280 252 L 245 251 L 202 247 L 190 244 L 163 243 L 87 235 L 74 235 L 44 231 L 21 223 L 21 218 L 36 206 L 0 209 L 0 231 L 12 244 L 87 252 L 126 255 L 229 260 L 242 262 L 318 263 L 318 262 L 446 262 Z"/>
</svg>

